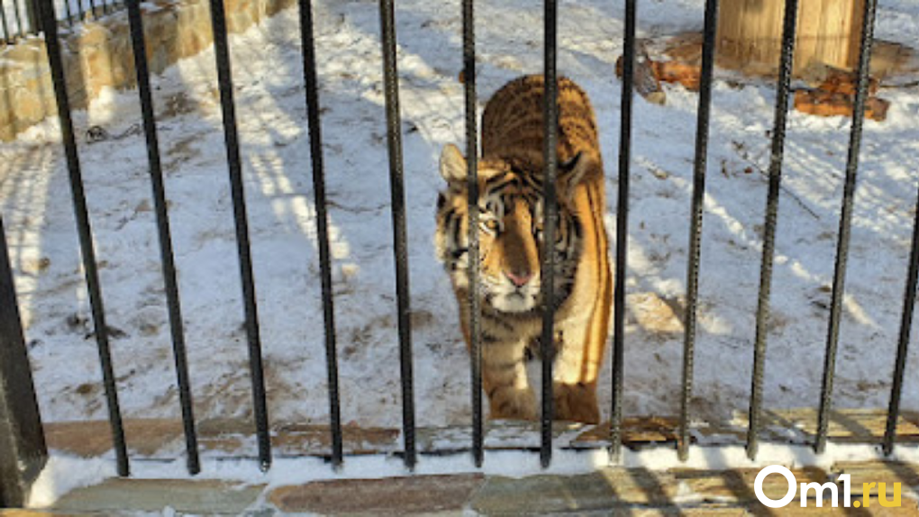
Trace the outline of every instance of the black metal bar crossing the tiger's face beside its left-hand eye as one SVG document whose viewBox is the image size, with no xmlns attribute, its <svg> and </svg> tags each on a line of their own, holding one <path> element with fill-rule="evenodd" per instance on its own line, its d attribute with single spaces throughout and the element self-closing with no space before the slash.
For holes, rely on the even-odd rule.
<svg viewBox="0 0 919 517">
<path fill-rule="evenodd" d="M 475 13 L 474 0 L 462 3 L 463 78 L 466 93 L 466 163 L 469 194 L 469 285 L 479 285 L 479 136 L 475 102 Z M 472 381 L 472 459 L 484 461 L 482 423 L 482 307 L 478 289 L 469 290 L 469 333 Z"/>
</svg>

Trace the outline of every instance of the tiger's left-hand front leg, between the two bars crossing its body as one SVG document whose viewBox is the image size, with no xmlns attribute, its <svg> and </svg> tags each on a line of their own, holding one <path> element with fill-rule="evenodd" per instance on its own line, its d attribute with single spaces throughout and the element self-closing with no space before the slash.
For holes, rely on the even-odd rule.
<svg viewBox="0 0 919 517">
<path fill-rule="evenodd" d="M 482 388 L 488 396 L 492 419 L 537 418 L 536 397 L 527 378 L 525 352 L 525 344 L 516 340 L 482 340 Z"/>
</svg>

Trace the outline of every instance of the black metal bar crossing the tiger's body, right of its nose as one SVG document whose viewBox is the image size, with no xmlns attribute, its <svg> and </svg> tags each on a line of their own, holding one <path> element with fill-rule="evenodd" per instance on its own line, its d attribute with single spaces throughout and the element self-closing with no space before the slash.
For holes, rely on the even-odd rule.
<svg viewBox="0 0 919 517">
<path fill-rule="evenodd" d="M 542 160 L 545 163 L 542 182 L 543 239 L 542 264 L 539 264 L 540 287 L 542 289 L 542 336 L 539 340 L 542 355 L 542 411 L 539 461 L 543 468 L 552 461 L 552 420 L 554 415 L 552 396 L 552 362 L 555 357 L 555 230 L 559 207 L 555 192 L 559 156 L 559 83 L 556 61 L 558 54 L 558 2 L 545 0 L 544 28 L 545 87 L 542 97 L 543 142 Z"/>
</svg>

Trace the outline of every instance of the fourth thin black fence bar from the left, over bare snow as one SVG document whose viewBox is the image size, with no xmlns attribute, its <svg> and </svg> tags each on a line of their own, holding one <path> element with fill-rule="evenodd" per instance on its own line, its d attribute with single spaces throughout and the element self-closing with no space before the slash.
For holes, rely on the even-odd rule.
<svg viewBox="0 0 919 517">
<path fill-rule="evenodd" d="M 325 204 L 323 133 L 319 114 L 319 80 L 316 74 L 316 43 L 312 27 L 312 2 L 300 0 L 300 34 L 303 48 L 303 82 L 306 84 L 306 111 L 310 124 L 312 192 L 316 204 L 316 238 L 319 241 L 319 266 L 323 286 L 325 322 L 325 364 L 329 391 L 329 427 L 332 433 L 332 464 L 342 464 L 341 403 L 338 396 L 338 354 L 335 345 L 335 305 L 332 292 L 332 259 L 329 253 L 328 210 Z"/>
</svg>

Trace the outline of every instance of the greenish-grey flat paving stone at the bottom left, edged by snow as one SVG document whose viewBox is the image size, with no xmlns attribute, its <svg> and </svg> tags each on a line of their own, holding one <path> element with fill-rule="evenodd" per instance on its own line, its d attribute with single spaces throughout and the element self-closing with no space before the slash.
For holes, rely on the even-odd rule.
<svg viewBox="0 0 919 517">
<path fill-rule="evenodd" d="M 58 500 L 55 511 L 176 511 L 208 515 L 239 514 L 251 507 L 264 486 L 203 479 L 114 478 L 75 489 Z"/>
</svg>

